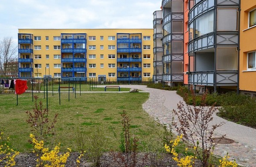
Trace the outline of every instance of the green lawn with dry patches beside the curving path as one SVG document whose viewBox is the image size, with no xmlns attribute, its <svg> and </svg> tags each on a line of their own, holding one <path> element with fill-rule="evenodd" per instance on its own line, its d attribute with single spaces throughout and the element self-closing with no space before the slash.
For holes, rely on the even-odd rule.
<svg viewBox="0 0 256 167">
<path fill-rule="evenodd" d="M 104 88 L 103 88 L 104 89 Z M 46 108 L 46 95 L 36 93 Z M 58 113 L 56 133 L 52 143 L 61 142 L 61 149 L 71 148 L 76 150 L 75 136 L 77 131 L 85 134 L 93 132 L 96 128 L 102 129 L 102 135 L 107 138 L 106 151 L 118 150 L 119 143 L 115 139 L 111 127 L 120 136 L 122 130 L 121 113 L 127 112 L 130 118 L 130 129 L 141 141 L 146 143 L 150 136 L 157 136 L 162 130 L 156 126 L 153 120 L 142 109 L 142 104 L 149 97 L 148 93 L 61 93 L 61 105 L 59 105 L 59 94 L 48 94 L 48 105 L 50 118 Z M 31 152 L 32 145 L 29 144 L 31 128 L 26 123 L 28 116 L 26 111 L 33 111 L 34 102 L 32 94 L 24 93 L 18 95 L 16 105 L 15 94 L 1 94 L 0 100 L 0 130 L 5 136 L 9 136 L 11 146 L 20 152 Z"/>
</svg>

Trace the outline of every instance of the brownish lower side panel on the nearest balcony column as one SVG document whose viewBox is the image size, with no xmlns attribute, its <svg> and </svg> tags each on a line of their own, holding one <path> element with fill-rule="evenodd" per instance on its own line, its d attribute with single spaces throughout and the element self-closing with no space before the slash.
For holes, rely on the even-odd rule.
<svg viewBox="0 0 256 167">
<path fill-rule="evenodd" d="M 217 70 L 237 70 L 238 51 L 236 47 L 217 48 Z"/>
</svg>

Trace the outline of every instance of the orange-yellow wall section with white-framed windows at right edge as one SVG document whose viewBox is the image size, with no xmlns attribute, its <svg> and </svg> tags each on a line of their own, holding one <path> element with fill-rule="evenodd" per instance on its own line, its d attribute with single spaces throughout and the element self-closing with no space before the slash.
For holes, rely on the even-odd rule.
<svg viewBox="0 0 256 167">
<path fill-rule="evenodd" d="M 241 0 L 240 17 L 240 70 L 241 93 L 256 96 L 256 1 Z"/>
</svg>

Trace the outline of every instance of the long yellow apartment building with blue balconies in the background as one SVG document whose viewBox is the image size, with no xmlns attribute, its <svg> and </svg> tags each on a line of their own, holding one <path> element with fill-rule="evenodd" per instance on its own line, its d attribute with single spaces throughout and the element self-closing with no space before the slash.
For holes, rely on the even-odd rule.
<svg viewBox="0 0 256 167">
<path fill-rule="evenodd" d="M 18 76 L 142 82 L 153 78 L 153 29 L 18 29 Z"/>
</svg>

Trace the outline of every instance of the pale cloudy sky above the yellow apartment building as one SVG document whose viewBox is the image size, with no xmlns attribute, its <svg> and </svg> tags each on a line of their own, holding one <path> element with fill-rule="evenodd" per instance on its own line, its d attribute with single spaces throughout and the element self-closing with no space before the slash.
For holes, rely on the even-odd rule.
<svg viewBox="0 0 256 167">
<path fill-rule="evenodd" d="M 162 0 L 1 0 L 0 39 L 18 29 L 153 28 Z"/>
</svg>

